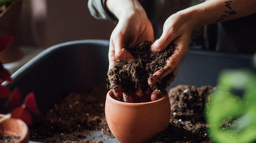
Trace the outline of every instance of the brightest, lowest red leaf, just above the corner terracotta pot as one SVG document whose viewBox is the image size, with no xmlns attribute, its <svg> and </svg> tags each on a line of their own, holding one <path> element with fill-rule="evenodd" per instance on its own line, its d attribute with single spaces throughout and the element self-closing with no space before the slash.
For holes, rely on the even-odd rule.
<svg viewBox="0 0 256 143">
<path fill-rule="evenodd" d="M 26 122 L 28 125 L 32 124 L 32 116 L 31 114 L 25 109 L 25 105 L 21 107 L 15 108 L 12 112 L 12 118 L 21 119 Z"/>
</svg>

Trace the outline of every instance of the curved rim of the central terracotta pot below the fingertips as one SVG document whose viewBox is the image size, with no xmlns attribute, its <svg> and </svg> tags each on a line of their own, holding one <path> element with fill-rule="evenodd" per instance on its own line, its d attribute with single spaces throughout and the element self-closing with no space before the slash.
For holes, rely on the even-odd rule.
<svg viewBox="0 0 256 143">
<path fill-rule="evenodd" d="M 122 101 L 119 101 L 119 100 L 116 100 L 116 99 L 112 98 L 110 96 L 110 93 L 113 94 L 111 89 L 107 93 L 107 100 L 110 100 L 111 102 L 114 102 L 114 103 L 120 104 L 120 105 L 124 105 L 124 106 L 142 106 L 142 105 L 155 104 L 155 103 L 158 103 L 158 102 L 161 102 L 161 101 L 165 100 L 166 98 L 169 100 L 168 92 L 166 90 L 164 91 L 164 96 L 161 99 L 158 99 L 158 100 L 155 100 L 155 101 L 150 101 L 150 102 L 145 102 L 145 103 L 126 103 L 126 102 L 122 102 Z"/>
</svg>

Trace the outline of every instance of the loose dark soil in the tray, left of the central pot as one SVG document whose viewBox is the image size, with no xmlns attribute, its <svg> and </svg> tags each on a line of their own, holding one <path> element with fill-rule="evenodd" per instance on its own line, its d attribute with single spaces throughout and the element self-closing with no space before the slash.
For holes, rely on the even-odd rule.
<svg viewBox="0 0 256 143">
<path fill-rule="evenodd" d="M 62 142 L 68 138 L 79 139 L 86 136 L 84 130 L 101 130 L 113 137 L 105 118 L 106 85 L 93 88 L 83 94 L 70 93 L 55 103 L 44 118 L 36 118 L 31 127 L 30 138 L 33 141 L 45 141 L 56 137 Z"/>
</svg>

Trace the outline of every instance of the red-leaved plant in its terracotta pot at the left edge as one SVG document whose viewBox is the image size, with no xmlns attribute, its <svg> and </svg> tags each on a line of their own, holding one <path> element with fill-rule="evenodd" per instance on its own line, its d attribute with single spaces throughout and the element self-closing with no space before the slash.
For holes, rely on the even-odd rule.
<svg viewBox="0 0 256 143">
<path fill-rule="evenodd" d="M 11 45 L 13 39 L 0 36 L 2 41 L 0 52 Z M 12 82 L 11 75 L 0 63 L 0 83 Z M 29 140 L 28 125 L 32 124 L 32 115 L 40 115 L 36 105 L 34 93 L 29 93 L 23 100 L 19 89 L 10 91 L 0 84 L 0 98 L 7 99 L 6 107 L 12 109 L 11 113 L 0 114 L 0 142 L 27 143 Z M 26 123 L 25 123 L 26 122 Z"/>
</svg>

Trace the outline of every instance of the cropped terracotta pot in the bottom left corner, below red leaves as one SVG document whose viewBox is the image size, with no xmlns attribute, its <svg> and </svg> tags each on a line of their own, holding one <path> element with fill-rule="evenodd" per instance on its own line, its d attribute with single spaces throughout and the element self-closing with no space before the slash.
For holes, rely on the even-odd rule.
<svg viewBox="0 0 256 143">
<path fill-rule="evenodd" d="M 0 114 L 0 118 L 4 115 Z M 28 126 L 20 119 L 10 118 L 0 123 L 0 134 L 19 136 L 15 143 L 28 143 Z"/>
</svg>

